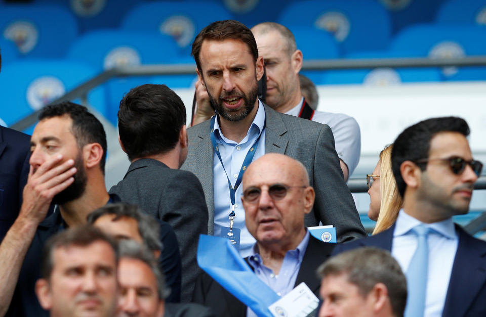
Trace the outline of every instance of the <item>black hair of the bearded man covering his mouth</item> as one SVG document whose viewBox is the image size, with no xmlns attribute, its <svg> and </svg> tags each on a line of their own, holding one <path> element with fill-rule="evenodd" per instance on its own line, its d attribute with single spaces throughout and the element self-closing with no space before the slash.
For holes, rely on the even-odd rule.
<svg viewBox="0 0 486 317">
<path fill-rule="evenodd" d="M 71 132 L 79 148 L 90 143 L 101 145 L 103 157 L 100 161 L 100 168 L 104 174 L 107 146 L 103 124 L 86 107 L 69 101 L 46 106 L 39 114 L 39 121 L 61 116 L 69 116 L 72 119 Z"/>
</svg>

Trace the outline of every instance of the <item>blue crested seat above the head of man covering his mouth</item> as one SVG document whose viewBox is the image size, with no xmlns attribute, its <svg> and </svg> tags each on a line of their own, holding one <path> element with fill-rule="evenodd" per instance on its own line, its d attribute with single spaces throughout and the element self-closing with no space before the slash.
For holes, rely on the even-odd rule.
<svg viewBox="0 0 486 317">
<path fill-rule="evenodd" d="M 89 65 L 68 60 L 25 59 L 9 63 L 2 67 L 0 76 L 0 117 L 12 125 L 95 75 Z M 92 90 L 88 103 L 106 114 L 103 89 Z"/>
</svg>

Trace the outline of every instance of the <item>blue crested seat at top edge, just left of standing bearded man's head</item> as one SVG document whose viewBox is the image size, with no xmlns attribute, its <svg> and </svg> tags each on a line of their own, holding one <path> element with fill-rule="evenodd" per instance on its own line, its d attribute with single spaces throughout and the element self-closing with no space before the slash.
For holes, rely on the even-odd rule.
<svg viewBox="0 0 486 317">
<path fill-rule="evenodd" d="M 181 56 L 187 56 L 192 41 L 201 29 L 211 22 L 231 18 L 229 12 L 215 2 L 158 1 L 135 7 L 124 18 L 121 27 L 169 34 L 179 44 Z"/>
</svg>

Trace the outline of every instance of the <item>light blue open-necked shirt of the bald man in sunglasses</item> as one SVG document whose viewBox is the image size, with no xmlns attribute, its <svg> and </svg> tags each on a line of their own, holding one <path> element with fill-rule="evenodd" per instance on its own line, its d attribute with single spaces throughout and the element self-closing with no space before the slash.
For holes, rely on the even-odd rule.
<svg viewBox="0 0 486 317">
<path fill-rule="evenodd" d="M 268 285 L 279 296 L 285 296 L 294 289 L 300 265 L 304 258 L 305 250 L 309 244 L 309 231 L 306 229 L 304 239 L 299 243 L 295 250 L 289 250 L 285 254 L 284 261 L 278 275 L 273 274 L 273 270 L 263 265 L 262 257 L 258 252 L 258 246 L 253 246 L 253 254 L 249 257 L 250 265 L 253 266 L 255 275 Z M 247 317 L 257 317 L 257 315 L 247 308 Z"/>
</svg>

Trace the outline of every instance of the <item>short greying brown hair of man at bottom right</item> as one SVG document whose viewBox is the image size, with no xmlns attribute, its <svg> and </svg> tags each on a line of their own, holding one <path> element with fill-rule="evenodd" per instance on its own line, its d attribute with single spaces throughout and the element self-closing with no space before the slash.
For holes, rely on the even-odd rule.
<svg viewBox="0 0 486 317">
<path fill-rule="evenodd" d="M 383 283 L 388 289 L 393 314 L 397 317 L 403 316 L 407 304 L 407 279 L 388 251 L 373 247 L 346 251 L 321 264 L 317 274 L 322 279 L 344 274 L 349 283 L 358 287 L 363 297 L 376 284 Z"/>
</svg>

